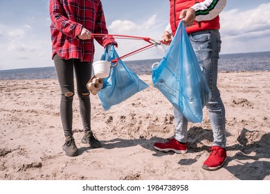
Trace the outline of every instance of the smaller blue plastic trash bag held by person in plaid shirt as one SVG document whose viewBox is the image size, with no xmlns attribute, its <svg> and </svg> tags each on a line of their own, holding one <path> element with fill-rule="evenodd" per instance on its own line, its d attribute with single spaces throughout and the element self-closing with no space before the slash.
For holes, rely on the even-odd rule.
<svg viewBox="0 0 270 194">
<path fill-rule="evenodd" d="M 119 58 L 114 46 L 110 44 L 105 48 L 101 60 L 111 61 Z M 113 64 L 111 64 L 113 65 Z M 116 67 L 111 67 L 108 78 L 105 78 L 103 87 L 98 92 L 101 105 L 108 110 L 113 105 L 122 103 L 138 91 L 149 87 L 136 73 L 129 69 L 122 60 L 118 60 Z"/>
</svg>

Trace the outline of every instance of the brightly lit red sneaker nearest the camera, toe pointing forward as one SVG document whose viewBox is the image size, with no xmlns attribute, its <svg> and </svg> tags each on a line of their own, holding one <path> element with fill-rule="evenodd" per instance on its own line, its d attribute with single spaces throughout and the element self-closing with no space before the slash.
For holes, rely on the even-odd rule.
<svg viewBox="0 0 270 194">
<path fill-rule="evenodd" d="M 213 146 L 210 148 L 210 155 L 206 161 L 204 161 L 204 164 L 202 168 L 204 170 L 218 170 L 219 168 L 222 168 L 224 161 L 227 158 L 226 149 L 219 147 L 219 146 Z"/>
</svg>

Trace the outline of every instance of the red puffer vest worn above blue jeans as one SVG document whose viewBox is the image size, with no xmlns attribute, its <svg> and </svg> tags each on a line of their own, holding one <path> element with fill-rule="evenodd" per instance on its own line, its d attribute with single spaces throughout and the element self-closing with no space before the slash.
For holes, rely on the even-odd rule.
<svg viewBox="0 0 270 194">
<path fill-rule="evenodd" d="M 179 15 L 181 10 L 188 9 L 195 3 L 202 2 L 204 0 L 170 0 L 170 27 L 172 29 L 172 35 L 176 33 L 177 26 L 179 24 Z M 209 21 L 195 21 L 192 26 L 188 26 L 186 31 L 188 34 L 195 33 L 201 30 L 213 30 L 219 29 L 219 16 Z"/>
</svg>

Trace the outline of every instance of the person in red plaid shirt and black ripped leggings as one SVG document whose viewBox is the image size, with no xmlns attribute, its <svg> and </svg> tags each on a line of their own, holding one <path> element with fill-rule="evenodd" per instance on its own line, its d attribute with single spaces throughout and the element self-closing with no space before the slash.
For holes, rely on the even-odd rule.
<svg viewBox="0 0 270 194">
<path fill-rule="evenodd" d="M 94 42 L 91 33 L 108 34 L 100 0 L 71 1 L 50 0 L 52 58 L 61 88 L 60 115 L 64 129 L 66 155 L 78 155 L 72 132 L 74 82 L 80 100 L 80 114 L 84 127 L 82 143 L 100 148 L 101 143 L 91 130 L 91 104 L 87 82 L 91 78 Z M 97 37 L 102 45 L 116 44 L 111 37 Z"/>
</svg>

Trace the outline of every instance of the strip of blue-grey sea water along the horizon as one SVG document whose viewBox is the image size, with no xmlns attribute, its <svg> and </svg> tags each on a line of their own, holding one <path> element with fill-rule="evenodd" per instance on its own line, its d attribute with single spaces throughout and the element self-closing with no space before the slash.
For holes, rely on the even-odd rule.
<svg viewBox="0 0 270 194">
<path fill-rule="evenodd" d="M 161 59 L 125 61 L 136 74 L 152 74 L 152 64 Z M 220 55 L 219 71 L 270 71 L 270 51 Z M 0 80 L 54 79 L 55 67 L 0 70 Z"/>
</svg>

